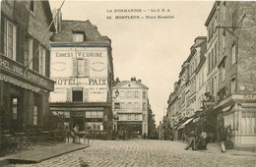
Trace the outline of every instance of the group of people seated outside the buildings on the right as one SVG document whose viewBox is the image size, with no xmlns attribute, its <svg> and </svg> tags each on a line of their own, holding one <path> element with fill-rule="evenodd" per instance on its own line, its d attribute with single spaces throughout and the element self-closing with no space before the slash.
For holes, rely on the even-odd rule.
<svg viewBox="0 0 256 167">
<path fill-rule="evenodd" d="M 201 134 L 198 136 L 194 130 L 192 130 L 188 135 L 188 144 L 185 147 L 188 150 L 192 147 L 193 150 L 196 149 L 207 149 L 207 133 L 205 131 L 201 131 Z"/>
</svg>

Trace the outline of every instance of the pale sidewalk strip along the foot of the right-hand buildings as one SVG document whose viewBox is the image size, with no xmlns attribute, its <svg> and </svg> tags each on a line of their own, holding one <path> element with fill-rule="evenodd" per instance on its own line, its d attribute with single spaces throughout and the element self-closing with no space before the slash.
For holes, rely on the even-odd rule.
<svg viewBox="0 0 256 167">
<path fill-rule="evenodd" d="M 183 142 L 183 141 L 180 141 Z M 187 143 L 183 142 L 186 146 Z M 191 148 L 190 148 L 191 149 Z M 206 153 L 222 153 L 220 143 L 208 143 L 207 150 L 198 149 L 196 151 L 206 152 Z M 225 149 L 224 154 L 229 155 L 237 155 L 237 156 L 256 156 L 256 152 L 253 151 L 243 151 L 243 150 L 236 150 L 236 149 Z"/>
</svg>

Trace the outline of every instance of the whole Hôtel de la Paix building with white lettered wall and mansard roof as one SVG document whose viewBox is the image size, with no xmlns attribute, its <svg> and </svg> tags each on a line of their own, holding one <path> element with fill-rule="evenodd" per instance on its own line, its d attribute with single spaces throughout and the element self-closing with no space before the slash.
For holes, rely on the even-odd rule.
<svg viewBox="0 0 256 167">
<path fill-rule="evenodd" d="M 56 13 L 56 12 L 54 12 Z M 90 21 L 65 21 L 57 17 L 51 37 L 50 110 L 65 115 L 70 129 L 111 135 L 111 40 Z"/>
</svg>

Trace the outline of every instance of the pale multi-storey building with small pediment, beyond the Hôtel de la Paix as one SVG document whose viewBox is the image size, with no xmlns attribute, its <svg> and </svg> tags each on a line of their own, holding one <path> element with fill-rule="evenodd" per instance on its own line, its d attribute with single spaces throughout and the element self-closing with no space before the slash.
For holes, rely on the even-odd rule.
<svg viewBox="0 0 256 167">
<path fill-rule="evenodd" d="M 148 87 L 136 78 L 117 83 L 112 88 L 114 131 L 129 137 L 148 137 Z"/>
</svg>

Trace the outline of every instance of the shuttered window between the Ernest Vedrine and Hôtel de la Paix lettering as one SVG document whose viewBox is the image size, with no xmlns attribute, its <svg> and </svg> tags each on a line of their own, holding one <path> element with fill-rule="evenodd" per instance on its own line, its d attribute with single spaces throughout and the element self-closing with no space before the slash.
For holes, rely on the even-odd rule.
<svg viewBox="0 0 256 167">
<path fill-rule="evenodd" d="M 73 59 L 73 76 L 89 77 L 89 60 Z"/>
</svg>

